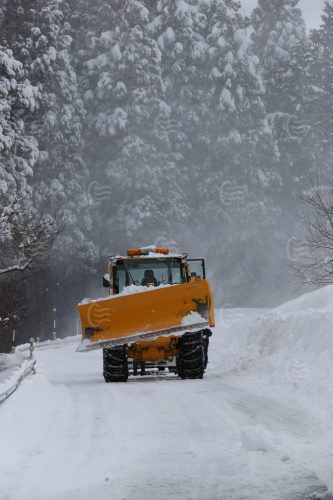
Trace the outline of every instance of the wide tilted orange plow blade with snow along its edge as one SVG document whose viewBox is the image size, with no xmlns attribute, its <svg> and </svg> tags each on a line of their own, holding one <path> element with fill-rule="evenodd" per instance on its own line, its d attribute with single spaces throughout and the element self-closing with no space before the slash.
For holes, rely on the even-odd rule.
<svg viewBox="0 0 333 500">
<path fill-rule="evenodd" d="M 214 326 L 213 296 L 205 279 L 152 287 L 130 295 L 111 295 L 79 304 L 76 309 L 82 323 L 78 351 Z"/>
</svg>

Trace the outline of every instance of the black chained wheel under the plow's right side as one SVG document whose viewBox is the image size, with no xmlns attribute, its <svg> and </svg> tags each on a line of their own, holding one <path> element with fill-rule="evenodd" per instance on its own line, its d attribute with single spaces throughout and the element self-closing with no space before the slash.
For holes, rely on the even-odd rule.
<svg viewBox="0 0 333 500">
<path fill-rule="evenodd" d="M 205 351 L 202 331 L 185 333 L 179 339 L 177 372 L 182 378 L 202 378 L 205 371 Z"/>
</svg>

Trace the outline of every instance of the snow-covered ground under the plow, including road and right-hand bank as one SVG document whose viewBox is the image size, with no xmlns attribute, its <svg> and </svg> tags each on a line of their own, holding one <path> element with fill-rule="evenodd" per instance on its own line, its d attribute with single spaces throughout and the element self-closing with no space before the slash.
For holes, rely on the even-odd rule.
<svg viewBox="0 0 333 500">
<path fill-rule="evenodd" d="M 332 498 L 331 305 L 217 316 L 203 380 L 106 384 L 100 351 L 36 351 L 0 407 L 0 499 Z"/>
</svg>

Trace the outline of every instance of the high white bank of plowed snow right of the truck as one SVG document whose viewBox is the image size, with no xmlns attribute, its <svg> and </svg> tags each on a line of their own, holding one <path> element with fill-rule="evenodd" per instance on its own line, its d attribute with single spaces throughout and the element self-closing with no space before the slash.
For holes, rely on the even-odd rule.
<svg viewBox="0 0 333 500">
<path fill-rule="evenodd" d="M 224 309 L 220 321 L 224 373 L 259 372 L 333 413 L 333 286 L 250 316 Z"/>
</svg>

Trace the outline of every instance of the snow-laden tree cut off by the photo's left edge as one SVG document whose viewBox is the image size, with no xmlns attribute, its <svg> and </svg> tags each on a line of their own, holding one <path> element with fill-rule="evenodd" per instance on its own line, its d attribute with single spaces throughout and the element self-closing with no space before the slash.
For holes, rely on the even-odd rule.
<svg viewBox="0 0 333 500">
<path fill-rule="evenodd" d="M 23 65 L 0 47 L 0 273 L 24 270 L 43 253 L 47 224 L 36 220 L 29 179 L 38 157 L 24 121 L 36 106 L 38 90 L 24 78 Z M 40 248 L 37 251 L 37 236 Z M 49 247 L 49 245 L 46 245 Z M 35 249 L 33 255 L 32 248 Z M 44 250 L 48 250 L 44 246 Z"/>
</svg>

